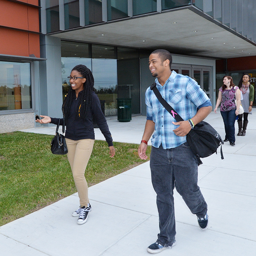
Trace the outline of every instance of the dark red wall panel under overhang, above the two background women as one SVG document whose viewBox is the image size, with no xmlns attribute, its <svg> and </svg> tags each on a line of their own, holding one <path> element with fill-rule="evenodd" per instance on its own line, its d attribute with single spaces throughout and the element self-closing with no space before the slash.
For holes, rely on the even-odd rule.
<svg viewBox="0 0 256 256">
<path fill-rule="evenodd" d="M 228 71 L 256 69 L 256 56 L 227 59 Z"/>
</svg>

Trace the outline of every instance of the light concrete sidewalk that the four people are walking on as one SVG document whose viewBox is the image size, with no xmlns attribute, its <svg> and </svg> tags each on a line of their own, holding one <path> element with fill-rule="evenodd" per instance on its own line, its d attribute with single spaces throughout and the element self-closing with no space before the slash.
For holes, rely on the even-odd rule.
<svg viewBox="0 0 256 256">
<path fill-rule="evenodd" d="M 114 141 L 140 143 L 146 118 L 129 123 L 109 119 Z M 219 113 L 206 121 L 225 138 Z M 237 123 L 236 123 L 237 128 Z M 25 131 L 25 130 L 24 130 Z M 54 134 L 53 128 L 27 132 Z M 236 131 L 237 133 L 237 131 Z M 104 139 L 95 129 L 96 139 Z M 236 146 L 223 145 L 220 154 L 202 159 L 199 186 L 208 204 L 209 227 L 202 231 L 181 196 L 174 192 L 176 240 L 161 256 L 256 255 L 256 113 L 249 115 L 246 136 L 236 136 Z M 89 188 L 92 211 L 77 225 L 72 211 L 78 195 L 66 197 L 26 217 L 0 227 L 2 256 L 143 256 L 157 240 L 158 211 L 149 162 Z"/>
</svg>

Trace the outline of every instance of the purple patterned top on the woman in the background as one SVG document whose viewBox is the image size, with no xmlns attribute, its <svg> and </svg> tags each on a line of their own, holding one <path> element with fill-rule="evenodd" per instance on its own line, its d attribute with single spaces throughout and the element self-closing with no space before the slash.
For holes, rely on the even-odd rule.
<svg viewBox="0 0 256 256">
<path fill-rule="evenodd" d="M 236 109 L 236 90 L 237 86 L 232 87 L 230 90 L 225 89 L 222 90 L 222 87 L 219 89 L 222 94 L 221 100 L 221 111 L 230 111 L 232 109 Z"/>
</svg>

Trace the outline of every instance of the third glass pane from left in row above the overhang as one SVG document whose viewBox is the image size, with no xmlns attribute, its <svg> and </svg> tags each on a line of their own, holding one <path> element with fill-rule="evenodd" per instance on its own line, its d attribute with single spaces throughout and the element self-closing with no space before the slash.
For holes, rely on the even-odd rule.
<svg viewBox="0 0 256 256">
<path fill-rule="evenodd" d="M 84 0 L 85 25 L 102 22 L 102 1 Z"/>
</svg>

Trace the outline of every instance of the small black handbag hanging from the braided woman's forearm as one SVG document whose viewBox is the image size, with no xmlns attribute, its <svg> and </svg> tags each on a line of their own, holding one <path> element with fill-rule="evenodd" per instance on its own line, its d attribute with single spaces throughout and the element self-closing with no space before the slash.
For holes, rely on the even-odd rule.
<svg viewBox="0 0 256 256">
<path fill-rule="evenodd" d="M 67 144 L 65 141 L 65 136 L 63 135 L 65 132 L 65 119 L 63 118 L 63 126 L 62 126 L 62 133 L 60 134 L 58 132 L 60 126 L 60 119 L 59 124 L 56 127 L 56 133 L 55 136 L 52 139 L 51 142 L 51 151 L 54 155 L 65 155 L 68 153 Z"/>
</svg>

